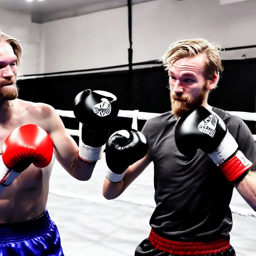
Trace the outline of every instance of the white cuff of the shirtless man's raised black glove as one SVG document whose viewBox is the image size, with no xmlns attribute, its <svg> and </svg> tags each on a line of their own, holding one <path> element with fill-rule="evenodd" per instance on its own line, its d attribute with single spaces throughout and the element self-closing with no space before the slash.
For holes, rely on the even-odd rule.
<svg viewBox="0 0 256 256">
<path fill-rule="evenodd" d="M 87 162 L 96 162 L 101 159 L 102 153 L 104 151 L 105 145 L 101 147 L 91 147 L 82 143 L 78 156 Z"/>
</svg>

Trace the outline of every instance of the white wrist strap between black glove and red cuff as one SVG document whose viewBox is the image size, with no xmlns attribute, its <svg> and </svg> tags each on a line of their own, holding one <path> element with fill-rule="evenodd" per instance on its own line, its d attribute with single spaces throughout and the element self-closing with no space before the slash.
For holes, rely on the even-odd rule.
<svg viewBox="0 0 256 256">
<path fill-rule="evenodd" d="M 212 159 L 212 161 L 217 166 L 219 166 L 230 156 L 232 156 L 237 151 L 237 148 L 237 142 L 235 141 L 234 137 L 227 131 L 220 145 L 216 148 L 216 150 L 213 153 L 208 155 Z"/>
</svg>

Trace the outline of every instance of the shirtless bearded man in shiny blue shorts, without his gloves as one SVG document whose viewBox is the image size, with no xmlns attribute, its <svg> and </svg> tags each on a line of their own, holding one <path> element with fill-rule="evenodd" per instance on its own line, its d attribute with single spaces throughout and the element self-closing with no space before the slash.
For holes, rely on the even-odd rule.
<svg viewBox="0 0 256 256">
<path fill-rule="evenodd" d="M 101 157 L 100 152 L 94 152 L 97 156 L 92 159 L 86 150 L 94 147 L 84 143 L 79 151 L 51 106 L 17 98 L 15 83 L 20 57 L 19 42 L 0 32 L 0 149 L 15 129 L 28 124 L 36 125 L 44 129 L 45 136 L 47 133 L 50 135 L 54 156 L 62 167 L 78 180 L 90 179 L 95 162 Z M 84 98 L 80 95 L 77 105 L 82 100 Z M 80 106 L 76 117 L 82 116 L 78 113 L 82 111 Z M 22 136 L 16 137 L 17 142 Z M 48 148 L 51 150 L 50 143 Z M 45 209 L 54 157 L 48 162 L 50 164 L 44 168 L 30 164 L 10 186 L 4 187 L 0 195 L 0 255 L 63 255 L 57 227 Z"/>
</svg>

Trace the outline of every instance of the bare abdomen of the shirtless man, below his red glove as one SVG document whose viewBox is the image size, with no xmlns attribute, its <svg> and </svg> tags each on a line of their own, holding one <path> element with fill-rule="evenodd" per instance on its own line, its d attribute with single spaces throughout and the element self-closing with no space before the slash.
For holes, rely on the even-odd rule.
<svg viewBox="0 0 256 256">
<path fill-rule="evenodd" d="M 4 189 L 0 196 L 0 223 L 26 221 L 43 212 L 52 164 L 42 169 L 31 164 Z"/>
</svg>

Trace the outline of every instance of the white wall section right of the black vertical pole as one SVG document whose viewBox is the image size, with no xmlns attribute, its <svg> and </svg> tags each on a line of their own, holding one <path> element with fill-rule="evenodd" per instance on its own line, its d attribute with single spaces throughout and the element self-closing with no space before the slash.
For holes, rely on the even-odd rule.
<svg viewBox="0 0 256 256">
<path fill-rule="evenodd" d="M 222 47 L 256 44 L 256 1 L 219 5 L 219 0 L 158 0 L 133 8 L 134 62 L 158 59 L 179 39 L 205 38 Z M 225 52 L 241 58 L 244 51 Z M 248 51 L 246 51 L 248 52 Z M 256 48 L 249 50 L 256 57 Z"/>
</svg>

